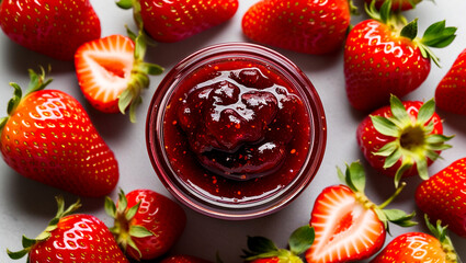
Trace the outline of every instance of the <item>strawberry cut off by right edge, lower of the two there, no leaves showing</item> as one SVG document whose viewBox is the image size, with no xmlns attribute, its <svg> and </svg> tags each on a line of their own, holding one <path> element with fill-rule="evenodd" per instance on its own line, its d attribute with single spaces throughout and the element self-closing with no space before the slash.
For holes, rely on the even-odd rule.
<svg viewBox="0 0 466 263">
<path fill-rule="evenodd" d="M 466 158 L 423 181 L 416 191 L 416 204 L 433 221 L 466 238 Z"/>
</svg>

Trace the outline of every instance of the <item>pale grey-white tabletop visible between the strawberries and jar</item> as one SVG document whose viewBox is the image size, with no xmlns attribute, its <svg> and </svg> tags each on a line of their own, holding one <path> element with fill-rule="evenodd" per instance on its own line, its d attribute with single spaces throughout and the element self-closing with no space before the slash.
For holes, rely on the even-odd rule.
<svg viewBox="0 0 466 263">
<path fill-rule="evenodd" d="M 101 19 L 102 36 L 125 34 L 125 24 L 134 28 L 130 11 L 120 10 L 113 1 L 91 0 Z M 240 7 L 229 22 L 196 35 L 186 41 L 174 44 L 158 44 L 149 47 L 147 60 L 163 66 L 168 72 L 178 61 L 189 54 L 211 44 L 223 42 L 248 42 L 241 33 L 241 18 L 246 10 L 255 1 L 240 0 Z M 424 1 L 413 11 L 406 12 L 409 20 L 419 18 L 420 34 L 433 22 L 446 19 L 447 26 L 457 26 L 457 37 L 454 43 L 434 52 L 441 59 L 442 68 L 432 66 L 428 80 L 406 99 L 429 100 L 434 95 L 435 87 L 446 73 L 456 56 L 466 48 L 466 1 L 439 0 L 436 3 Z M 363 19 L 354 18 L 353 24 Z M 246 247 L 246 237 L 266 236 L 276 241 L 280 247 L 286 244 L 288 235 L 297 227 L 309 221 L 314 201 L 320 191 L 329 185 L 340 183 L 336 167 L 343 167 L 344 162 L 363 160 L 356 146 L 355 129 L 364 117 L 363 113 L 351 108 L 344 91 L 343 53 L 328 56 L 309 56 L 279 49 L 283 55 L 298 65 L 312 81 L 319 92 L 328 122 L 328 141 L 323 162 L 315 180 L 302 195 L 285 209 L 259 219 L 247 221 L 226 221 L 209 218 L 187 208 L 187 225 L 181 240 L 173 248 L 172 253 L 187 253 L 215 261 L 218 252 L 226 263 L 240 262 L 241 249 Z M 5 114 L 5 105 L 12 95 L 10 81 L 25 87 L 27 84 L 27 69 L 37 69 L 38 65 L 52 65 L 52 76 L 55 80 L 49 89 L 66 91 L 81 101 L 88 110 L 96 128 L 115 152 L 120 163 L 121 180 L 117 187 L 126 192 L 135 188 L 148 187 L 168 195 L 159 182 L 149 161 L 145 141 L 145 119 L 147 107 L 154 91 L 164 75 L 151 78 L 150 88 L 144 93 L 145 100 L 137 111 L 137 124 L 130 124 L 126 116 L 106 115 L 93 110 L 82 96 L 73 71 L 72 62 L 56 61 L 45 56 L 30 52 L 12 43 L 3 33 L 0 33 L 0 116 Z M 466 117 L 439 112 L 444 119 L 445 134 L 455 134 L 450 142 L 453 149 L 442 153 L 443 160 L 437 160 L 429 172 L 436 173 L 456 159 L 466 157 Z M 375 203 L 382 203 L 393 192 L 391 179 L 375 174 L 363 161 L 368 172 L 366 194 Z M 21 247 L 21 236 L 35 237 L 55 215 L 55 199 L 57 194 L 64 194 L 68 204 L 76 201 L 76 196 L 56 188 L 24 179 L 0 161 L 0 262 L 12 262 L 4 252 L 7 248 L 18 250 Z M 395 201 L 390 208 L 401 208 L 406 211 L 416 209 L 413 192 L 418 179 L 408 180 L 408 186 Z M 115 198 L 116 191 L 112 194 Z M 104 214 L 103 198 L 83 199 L 81 213 L 89 213 L 101 218 L 109 226 L 111 219 Z M 420 213 L 418 213 L 420 215 Z M 417 217 L 422 221 L 422 217 Z M 393 237 L 387 242 L 405 231 L 421 230 L 422 227 L 400 229 L 391 226 Z M 463 261 L 466 261 L 466 239 L 451 235 Z M 25 262 L 22 260 L 21 262 Z"/>
</svg>

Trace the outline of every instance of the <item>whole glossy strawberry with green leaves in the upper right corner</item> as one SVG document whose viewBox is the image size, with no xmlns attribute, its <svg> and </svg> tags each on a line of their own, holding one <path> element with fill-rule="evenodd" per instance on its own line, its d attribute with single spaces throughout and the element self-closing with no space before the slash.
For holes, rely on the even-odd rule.
<svg viewBox="0 0 466 263">
<path fill-rule="evenodd" d="M 445 21 L 429 26 L 417 37 L 417 20 L 406 24 L 399 13 L 390 13 L 386 1 L 378 13 L 367 9 L 372 19 L 356 24 L 344 47 L 346 95 L 356 110 L 371 111 L 388 104 L 390 94 L 401 98 L 427 79 L 431 59 L 439 59 L 429 47 L 445 47 L 455 38 L 455 27 Z M 399 28 L 398 24 L 406 24 Z"/>
</svg>

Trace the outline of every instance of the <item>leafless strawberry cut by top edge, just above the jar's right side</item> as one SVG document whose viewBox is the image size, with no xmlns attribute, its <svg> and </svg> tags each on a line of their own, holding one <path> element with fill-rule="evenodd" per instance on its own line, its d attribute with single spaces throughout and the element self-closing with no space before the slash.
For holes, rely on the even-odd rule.
<svg viewBox="0 0 466 263">
<path fill-rule="evenodd" d="M 343 46 L 350 25 L 348 0 L 262 0 L 242 18 L 252 41 L 307 54 L 326 54 Z"/>
</svg>

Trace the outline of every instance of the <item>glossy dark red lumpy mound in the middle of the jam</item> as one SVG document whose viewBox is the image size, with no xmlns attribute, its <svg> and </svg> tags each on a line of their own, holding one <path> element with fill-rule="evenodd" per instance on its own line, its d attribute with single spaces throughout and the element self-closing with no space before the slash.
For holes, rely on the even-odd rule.
<svg viewBox="0 0 466 263">
<path fill-rule="evenodd" d="M 178 123 L 211 172 L 242 181 L 274 173 L 284 163 L 299 130 L 294 114 L 304 105 L 263 71 L 218 70 L 183 95 Z"/>
</svg>

